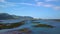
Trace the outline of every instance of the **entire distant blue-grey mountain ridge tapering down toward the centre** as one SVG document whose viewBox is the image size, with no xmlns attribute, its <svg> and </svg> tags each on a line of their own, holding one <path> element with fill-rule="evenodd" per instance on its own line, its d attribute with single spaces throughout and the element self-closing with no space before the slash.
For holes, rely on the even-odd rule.
<svg viewBox="0 0 60 34">
<path fill-rule="evenodd" d="M 16 15 L 10 15 L 7 13 L 0 13 L 0 20 L 6 20 L 6 19 L 33 19 L 33 17 L 30 16 L 16 16 Z"/>
</svg>

